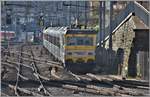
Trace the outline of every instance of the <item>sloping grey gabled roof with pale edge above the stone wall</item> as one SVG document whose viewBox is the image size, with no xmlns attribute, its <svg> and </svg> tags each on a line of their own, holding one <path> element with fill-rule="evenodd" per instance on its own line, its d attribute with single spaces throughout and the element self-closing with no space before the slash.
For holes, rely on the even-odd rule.
<svg viewBox="0 0 150 97">
<path fill-rule="evenodd" d="M 112 20 L 111 25 L 105 28 L 105 38 L 103 42 L 107 41 L 111 33 L 115 33 L 126 21 L 131 18 L 131 16 L 138 16 L 144 24 L 149 27 L 149 15 L 150 12 L 138 2 L 129 2 L 126 8 L 122 10 L 114 20 Z"/>
</svg>

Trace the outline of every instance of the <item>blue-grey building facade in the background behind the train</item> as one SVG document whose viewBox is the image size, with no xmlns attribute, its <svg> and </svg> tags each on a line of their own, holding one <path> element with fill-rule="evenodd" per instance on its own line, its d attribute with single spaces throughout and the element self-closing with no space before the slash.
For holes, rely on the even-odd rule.
<svg viewBox="0 0 150 97">
<path fill-rule="evenodd" d="M 2 31 L 40 33 L 46 26 L 87 25 L 88 1 L 5 1 L 1 3 Z M 23 35 L 24 36 L 24 35 Z"/>
</svg>

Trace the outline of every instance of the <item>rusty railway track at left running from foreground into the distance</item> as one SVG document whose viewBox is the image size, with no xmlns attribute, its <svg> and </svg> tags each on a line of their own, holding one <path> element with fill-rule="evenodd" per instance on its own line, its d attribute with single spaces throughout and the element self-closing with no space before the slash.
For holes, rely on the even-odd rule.
<svg viewBox="0 0 150 97">
<path fill-rule="evenodd" d="M 14 86 L 12 86 L 12 87 L 14 87 L 14 91 L 15 91 L 15 95 L 16 96 L 20 96 L 19 95 L 19 93 L 18 93 L 18 89 L 19 89 L 19 82 L 21 82 L 22 80 L 29 80 L 27 77 L 24 77 L 23 75 L 22 75 L 22 67 L 24 66 L 24 67 L 27 67 L 27 68 L 31 68 L 32 69 L 32 71 L 34 72 L 33 73 L 33 75 L 38 79 L 38 81 L 40 82 L 40 86 L 39 86 L 39 91 L 42 91 L 43 93 L 42 94 L 44 94 L 45 96 L 50 96 L 51 94 L 49 93 L 49 91 L 47 91 L 46 90 L 46 88 L 44 87 L 44 85 L 43 85 L 43 83 L 42 83 L 42 79 L 41 78 L 44 78 L 44 77 L 42 77 L 41 75 L 40 75 L 40 73 L 38 72 L 38 68 L 37 68 L 37 66 L 36 66 L 36 62 L 35 61 L 31 61 L 32 63 L 30 64 L 30 65 L 25 65 L 24 63 L 23 63 L 23 47 L 24 47 L 25 45 L 21 45 L 20 46 L 20 51 L 18 52 L 18 55 L 17 55 L 17 57 L 18 57 L 18 62 L 11 62 L 11 61 L 9 61 L 8 60 L 8 57 L 6 58 L 7 60 L 5 61 L 5 62 L 2 62 L 2 64 L 5 64 L 5 65 L 7 65 L 7 66 L 9 66 L 9 67 L 12 67 L 12 68 L 15 68 L 18 72 L 17 72 L 17 78 L 16 78 L 16 83 L 15 83 L 15 85 Z M 29 46 L 30 47 L 30 46 Z M 31 47 L 29 48 L 29 50 L 30 50 L 30 57 L 32 57 L 32 60 L 35 60 L 34 59 L 34 54 L 33 54 L 33 52 L 32 52 L 32 49 L 31 49 Z M 6 52 L 5 52 L 6 53 Z M 9 51 L 7 52 L 7 53 L 10 53 Z M 18 65 L 18 66 L 15 66 L 15 65 L 10 65 L 10 64 L 16 64 L 16 65 Z"/>
</svg>

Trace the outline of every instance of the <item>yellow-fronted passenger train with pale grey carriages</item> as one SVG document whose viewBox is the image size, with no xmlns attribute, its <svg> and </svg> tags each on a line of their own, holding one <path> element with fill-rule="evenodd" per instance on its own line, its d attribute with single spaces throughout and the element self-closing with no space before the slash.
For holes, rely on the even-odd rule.
<svg viewBox="0 0 150 97">
<path fill-rule="evenodd" d="M 47 27 L 43 30 L 43 45 L 67 70 L 87 73 L 96 66 L 96 35 L 93 29 Z"/>
</svg>

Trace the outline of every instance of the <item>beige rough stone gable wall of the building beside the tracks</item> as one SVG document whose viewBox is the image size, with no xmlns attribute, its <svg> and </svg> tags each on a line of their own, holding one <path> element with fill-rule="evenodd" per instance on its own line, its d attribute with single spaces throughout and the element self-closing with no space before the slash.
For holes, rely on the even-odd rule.
<svg viewBox="0 0 150 97">
<path fill-rule="evenodd" d="M 135 37 L 135 32 L 133 31 L 134 28 L 135 28 L 134 21 L 133 18 L 131 17 L 112 36 L 113 50 L 117 52 L 117 50 L 121 48 L 124 51 L 122 71 L 125 72 L 122 72 L 122 74 L 127 74 L 127 66 L 128 66 L 129 55 L 131 52 L 132 41 L 133 38 Z M 106 41 L 105 47 L 106 48 L 109 47 L 109 40 Z"/>
</svg>

